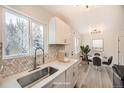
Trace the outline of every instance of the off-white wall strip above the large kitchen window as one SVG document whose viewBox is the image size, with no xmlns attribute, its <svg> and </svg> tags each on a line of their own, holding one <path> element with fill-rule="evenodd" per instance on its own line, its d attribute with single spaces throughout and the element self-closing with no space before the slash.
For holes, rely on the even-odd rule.
<svg viewBox="0 0 124 93">
<path fill-rule="evenodd" d="M 43 23 L 48 23 L 51 19 L 52 15 L 49 14 L 47 11 L 43 10 L 40 6 L 31 6 L 31 5 L 15 5 L 9 6 L 13 9 L 16 9 L 28 16 L 34 17 L 35 19 L 39 20 Z"/>
</svg>

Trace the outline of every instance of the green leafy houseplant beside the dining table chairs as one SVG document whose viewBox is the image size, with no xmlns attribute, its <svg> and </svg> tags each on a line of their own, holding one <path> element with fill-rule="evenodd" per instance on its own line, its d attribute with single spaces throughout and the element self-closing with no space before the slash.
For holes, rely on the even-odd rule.
<svg viewBox="0 0 124 93">
<path fill-rule="evenodd" d="M 82 53 L 82 60 L 88 61 L 88 53 L 91 51 L 91 49 L 89 48 L 89 45 L 80 46 L 80 48 Z"/>
</svg>

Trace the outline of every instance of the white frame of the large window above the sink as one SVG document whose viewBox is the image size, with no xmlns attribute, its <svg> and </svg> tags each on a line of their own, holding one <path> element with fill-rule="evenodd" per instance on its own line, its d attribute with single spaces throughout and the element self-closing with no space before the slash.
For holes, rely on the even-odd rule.
<svg viewBox="0 0 124 93">
<path fill-rule="evenodd" d="M 5 54 L 5 30 L 6 30 L 6 27 L 5 27 L 5 14 L 6 14 L 6 12 L 9 12 L 9 13 L 12 13 L 12 14 L 14 14 L 14 15 L 17 15 L 17 16 L 21 16 L 21 17 L 24 17 L 24 18 L 26 18 L 27 20 L 28 20 L 28 28 L 29 28 L 29 30 L 28 30 L 28 39 L 29 39 L 29 42 L 28 42 L 28 46 L 29 46 L 29 50 L 28 50 L 28 53 L 27 54 L 21 54 L 21 55 L 19 55 L 19 54 L 17 54 L 17 55 L 7 55 L 6 56 L 6 54 Z M 2 59 L 12 59 L 12 58 L 20 58 L 20 57 L 25 57 L 25 56 L 32 56 L 32 55 L 34 55 L 34 54 L 32 54 L 31 53 L 31 22 L 32 21 L 34 21 L 34 22 L 36 22 L 36 23 L 39 23 L 39 24 L 41 24 L 41 25 L 43 25 L 43 46 L 44 46 L 44 52 L 45 53 L 48 53 L 48 24 L 46 24 L 46 23 L 42 23 L 41 21 L 39 21 L 39 20 L 37 20 L 37 19 L 35 19 L 34 17 L 30 17 L 30 16 L 28 16 L 28 15 L 26 15 L 26 14 L 24 14 L 24 13 L 20 13 L 20 11 L 18 11 L 18 10 L 14 10 L 14 9 L 9 9 L 9 8 L 3 8 L 2 9 Z"/>
</svg>

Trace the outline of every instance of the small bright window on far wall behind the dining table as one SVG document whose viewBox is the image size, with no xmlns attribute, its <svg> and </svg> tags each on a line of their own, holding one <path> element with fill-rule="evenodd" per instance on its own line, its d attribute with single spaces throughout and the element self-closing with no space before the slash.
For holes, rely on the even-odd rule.
<svg viewBox="0 0 124 93">
<path fill-rule="evenodd" d="M 103 39 L 93 40 L 93 51 L 103 51 Z"/>
</svg>

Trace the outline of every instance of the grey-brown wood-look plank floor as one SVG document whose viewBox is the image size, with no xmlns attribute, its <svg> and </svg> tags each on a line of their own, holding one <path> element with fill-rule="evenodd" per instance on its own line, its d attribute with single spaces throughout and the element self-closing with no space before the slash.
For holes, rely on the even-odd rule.
<svg viewBox="0 0 124 93">
<path fill-rule="evenodd" d="M 78 88 L 112 88 L 112 69 L 101 66 L 97 68 L 92 64 L 79 66 Z"/>
</svg>

